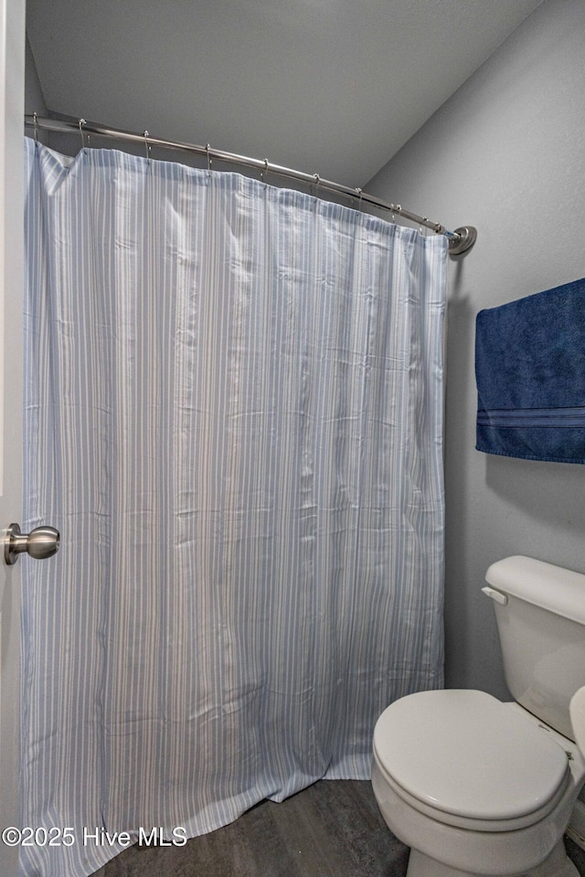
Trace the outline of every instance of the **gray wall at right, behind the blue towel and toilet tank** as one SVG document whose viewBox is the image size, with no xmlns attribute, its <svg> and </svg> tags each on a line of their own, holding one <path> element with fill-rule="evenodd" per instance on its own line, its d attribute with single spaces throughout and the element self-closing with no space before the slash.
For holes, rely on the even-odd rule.
<svg viewBox="0 0 585 877">
<path fill-rule="evenodd" d="M 585 467 L 474 449 L 474 318 L 585 276 L 583 0 L 538 6 L 367 191 L 478 228 L 450 267 L 446 683 L 507 697 L 484 571 L 525 554 L 585 572 Z"/>
</svg>

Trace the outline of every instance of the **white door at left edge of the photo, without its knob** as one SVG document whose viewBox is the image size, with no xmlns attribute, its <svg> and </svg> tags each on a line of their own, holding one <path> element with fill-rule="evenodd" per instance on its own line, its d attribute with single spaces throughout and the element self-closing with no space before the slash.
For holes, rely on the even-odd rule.
<svg viewBox="0 0 585 877">
<path fill-rule="evenodd" d="M 0 0 L 0 543 L 22 503 L 25 0 Z M 33 561 L 34 563 L 35 561 Z M 16 877 L 19 825 L 20 563 L 0 544 L 0 874 Z"/>
</svg>

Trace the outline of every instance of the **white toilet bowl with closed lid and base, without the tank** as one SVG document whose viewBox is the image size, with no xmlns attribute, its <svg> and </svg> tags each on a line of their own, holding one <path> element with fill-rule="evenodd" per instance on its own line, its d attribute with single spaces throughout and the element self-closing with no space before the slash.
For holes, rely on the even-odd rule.
<svg viewBox="0 0 585 877">
<path fill-rule="evenodd" d="M 411 694 L 374 732 L 372 786 L 413 850 L 408 877 L 577 877 L 562 835 L 584 779 L 577 745 L 485 692 Z"/>
</svg>

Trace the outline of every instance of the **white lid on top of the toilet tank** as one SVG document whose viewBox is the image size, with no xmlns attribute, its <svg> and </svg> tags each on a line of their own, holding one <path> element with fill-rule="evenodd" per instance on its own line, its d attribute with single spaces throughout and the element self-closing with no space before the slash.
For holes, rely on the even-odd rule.
<svg viewBox="0 0 585 877">
<path fill-rule="evenodd" d="M 555 615 L 585 625 L 585 575 L 523 555 L 492 564 L 485 581 Z"/>
</svg>

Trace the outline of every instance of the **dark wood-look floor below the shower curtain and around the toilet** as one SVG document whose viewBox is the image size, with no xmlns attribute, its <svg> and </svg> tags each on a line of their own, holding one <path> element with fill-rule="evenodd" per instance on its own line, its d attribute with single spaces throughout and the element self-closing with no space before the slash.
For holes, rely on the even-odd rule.
<svg viewBox="0 0 585 877">
<path fill-rule="evenodd" d="M 585 853 L 567 848 L 585 877 Z M 95 877 L 404 877 L 408 859 L 369 782 L 322 780 L 184 847 L 131 847 Z"/>
</svg>

